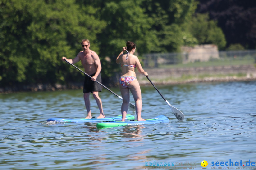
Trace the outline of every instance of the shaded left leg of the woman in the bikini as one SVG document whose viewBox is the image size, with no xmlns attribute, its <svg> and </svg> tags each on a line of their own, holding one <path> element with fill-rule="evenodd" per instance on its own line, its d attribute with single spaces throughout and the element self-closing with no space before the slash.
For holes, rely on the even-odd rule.
<svg viewBox="0 0 256 170">
<path fill-rule="evenodd" d="M 130 102 L 130 93 L 129 88 L 123 87 L 121 84 L 119 84 L 120 92 L 123 98 L 123 103 L 121 107 L 121 113 L 122 113 L 122 121 L 125 121 L 125 117 L 128 111 L 128 104 Z"/>
</svg>

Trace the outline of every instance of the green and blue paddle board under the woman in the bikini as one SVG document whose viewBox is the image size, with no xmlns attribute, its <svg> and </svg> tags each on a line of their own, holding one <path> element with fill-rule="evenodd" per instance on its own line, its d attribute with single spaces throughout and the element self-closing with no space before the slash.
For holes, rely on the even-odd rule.
<svg viewBox="0 0 256 170">
<path fill-rule="evenodd" d="M 159 115 L 157 117 L 153 117 L 152 119 L 147 119 L 146 121 L 108 121 L 108 122 L 100 122 L 96 124 L 97 128 L 106 128 L 106 127 L 117 127 L 117 126 L 126 126 L 126 125 L 146 125 L 146 124 L 156 124 L 156 123 L 166 123 L 169 122 L 169 119 L 164 115 Z"/>
</svg>

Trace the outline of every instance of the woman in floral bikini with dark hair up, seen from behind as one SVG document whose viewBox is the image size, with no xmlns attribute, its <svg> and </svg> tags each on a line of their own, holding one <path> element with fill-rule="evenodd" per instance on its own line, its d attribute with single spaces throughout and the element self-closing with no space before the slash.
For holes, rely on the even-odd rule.
<svg viewBox="0 0 256 170">
<path fill-rule="evenodd" d="M 120 91 L 123 97 L 121 107 L 122 121 L 125 121 L 126 113 L 128 111 L 128 104 L 130 102 L 130 92 L 135 101 L 135 110 L 138 121 L 145 121 L 141 117 L 142 101 L 141 101 L 141 88 L 136 79 L 135 68 L 137 67 L 139 73 L 147 76 L 147 73 L 142 69 L 141 63 L 137 56 L 133 55 L 136 50 L 136 45 L 133 42 L 127 41 L 126 47 L 123 47 L 122 52 L 116 58 L 116 63 L 121 63 L 122 73 L 120 77 Z M 123 54 L 126 51 L 126 54 Z"/>
</svg>

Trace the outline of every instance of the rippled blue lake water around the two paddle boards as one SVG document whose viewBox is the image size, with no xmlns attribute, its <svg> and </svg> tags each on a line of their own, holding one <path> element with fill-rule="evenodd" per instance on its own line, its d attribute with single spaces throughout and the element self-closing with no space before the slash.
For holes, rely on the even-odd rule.
<svg viewBox="0 0 256 170">
<path fill-rule="evenodd" d="M 0 169 L 201 169 L 204 160 L 207 169 L 255 167 L 255 81 L 157 88 L 184 121 L 153 86 L 142 87 L 142 117 L 163 114 L 169 123 L 107 129 L 46 124 L 51 117 L 84 118 L 82 90 L 1 94 Z M 106 89 L 100 97 L 106 117 L 121 114 L 118 97 Z M 92 96 L 91 110 L 98 116 Z"/>
</svg>

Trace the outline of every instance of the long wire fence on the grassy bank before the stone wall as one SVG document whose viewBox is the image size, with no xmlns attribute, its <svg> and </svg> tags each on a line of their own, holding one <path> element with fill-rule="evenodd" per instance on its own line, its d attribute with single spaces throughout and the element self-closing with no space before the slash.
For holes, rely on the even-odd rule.
<svg viewBox="0 0 256 170">
<path fill-rule="evenodd" d="M 210 53 L 155 53 L 143 55 L 144 68 L 187 68 L 250 65 L 256 63 L 256 50 Z"/>
</svg>

